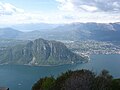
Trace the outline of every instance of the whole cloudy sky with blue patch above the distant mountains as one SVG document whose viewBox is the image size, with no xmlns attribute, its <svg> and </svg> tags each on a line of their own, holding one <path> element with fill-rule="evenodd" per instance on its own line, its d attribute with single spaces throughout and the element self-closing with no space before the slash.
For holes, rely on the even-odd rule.
<svg viewBox="0 0 120 90">
<path fill-rule="evenodd" d="M 120 0 L 0 0 L 0 25 L 120 22 Z"/>
</svg>

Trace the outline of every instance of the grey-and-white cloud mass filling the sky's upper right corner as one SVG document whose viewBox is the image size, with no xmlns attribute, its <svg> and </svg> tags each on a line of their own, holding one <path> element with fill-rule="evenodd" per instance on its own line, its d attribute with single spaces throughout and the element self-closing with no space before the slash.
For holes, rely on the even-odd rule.
<svg viewBox="0 0 120 90">
<path fill-rule="evenodd" d="M 56 0 L 60 8 L 68 5 L 69 8 L 79 11 L 119 12 L 120 0 Z"/>
</svg>

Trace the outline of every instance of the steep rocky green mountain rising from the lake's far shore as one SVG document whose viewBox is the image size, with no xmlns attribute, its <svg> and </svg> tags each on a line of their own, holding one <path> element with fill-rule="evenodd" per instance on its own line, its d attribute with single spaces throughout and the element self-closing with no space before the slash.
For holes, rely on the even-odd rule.
<svg viewBox="0 0 120 90">
<path fill-rule="evenodd" d="M 84 60 L 63 43 L 44 39 L 0 50 L 0 64 L 60 65 Z"/>
</svg>

